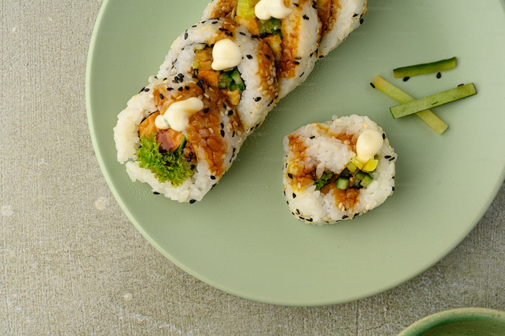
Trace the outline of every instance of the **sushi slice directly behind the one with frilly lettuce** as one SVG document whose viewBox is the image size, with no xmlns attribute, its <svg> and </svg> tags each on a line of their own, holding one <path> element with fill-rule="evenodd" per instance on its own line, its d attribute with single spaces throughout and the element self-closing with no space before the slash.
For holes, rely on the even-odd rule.
<svg viewBox="0 0 505 336">
<path fill-rule="evenodd" d="M 262 124 L 277 101 L 274 56 L 269 46 L 228 19 L 199 22 L 172 44 L 158 78 L 193 77 L 220 90 L 236 106 L 247 132 Z"/>
</svg>

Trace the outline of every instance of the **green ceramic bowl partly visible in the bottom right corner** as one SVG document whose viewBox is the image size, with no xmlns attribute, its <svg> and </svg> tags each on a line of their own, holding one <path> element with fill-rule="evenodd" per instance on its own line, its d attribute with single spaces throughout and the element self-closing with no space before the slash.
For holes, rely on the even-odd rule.
<svg viewBox="0 0 505 336">
<path fill-rule="evenodd" d="M 456 308 L 426 316 L 397 336 L 503 336 L 505 311 Z"/>
</svg>

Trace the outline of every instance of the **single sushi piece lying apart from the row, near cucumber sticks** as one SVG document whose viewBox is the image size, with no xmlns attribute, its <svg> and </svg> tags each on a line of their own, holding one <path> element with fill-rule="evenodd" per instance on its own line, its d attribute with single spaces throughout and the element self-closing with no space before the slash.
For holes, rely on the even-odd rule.
<svg viewBox="0 0 505 336">
<path fill-rule="evenodd" d="M 292 214 L 325 225 L 353 219 L 393 193 L 396 154 L 366 116 L 310 123 L 283 139 L 283 184 Z"/>
</svg>

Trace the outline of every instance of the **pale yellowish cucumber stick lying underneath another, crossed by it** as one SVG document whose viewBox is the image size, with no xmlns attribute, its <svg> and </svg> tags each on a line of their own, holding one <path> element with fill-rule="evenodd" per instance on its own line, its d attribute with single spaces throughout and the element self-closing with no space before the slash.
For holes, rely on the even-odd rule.
<svg viewBox="0 0 505 336">
<path fill-rule="evenodd" d="M 379 91 L 385 93 L 389 97 L 396 100 L 398 103 L 404 104 L 415 100 L 412 96 L 406 92 L 401 91 L 388 81 L 382 79 L 380 76 L 375 76 L 372 81 L 373 87 Z M 428 126 L 431 127 L 437 134 L 442 134 L 448 127 L 448 125 L 439 117 L 437 117 L 430 110 L 424 110 L 417 112 L 416 115 L 421 118 Z"/>
</svg>

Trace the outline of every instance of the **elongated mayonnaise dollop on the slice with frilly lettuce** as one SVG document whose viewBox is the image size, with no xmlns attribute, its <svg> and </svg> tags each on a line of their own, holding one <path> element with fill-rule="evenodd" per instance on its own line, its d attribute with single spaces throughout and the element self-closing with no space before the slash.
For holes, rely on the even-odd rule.
<svg viewBox="0 0 505 336">
<path fill-rule="evenodd" d="M 167 129 L 168 127 L 179 132 L 188 127 L 189 117 L 204 108 L 204 102 L 196 97 L 191 97 L 185 100 L 172 103 L 163 114 L 163 121 L 167 124 L 166 128 L 156 125 L 158 117 L 155 119 L 156 127 Z M 160 114 L 161 115 L 161 114 Z M 161 121 L 160 121 L 161 123 Z"/>
</svg>

